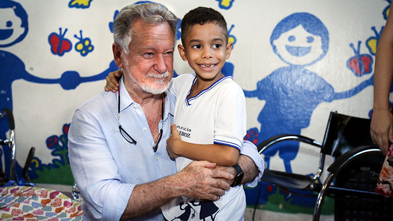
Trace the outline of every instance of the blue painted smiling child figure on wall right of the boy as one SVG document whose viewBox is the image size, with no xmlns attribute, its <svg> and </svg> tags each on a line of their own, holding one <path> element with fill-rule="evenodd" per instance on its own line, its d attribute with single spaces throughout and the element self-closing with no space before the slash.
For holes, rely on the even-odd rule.
<svg viewBox="0 0 393 221">
<path fill-rule="evenodd" d="M 279 134 L 301 134 L 309 126 L 311 114 L 323 102 L 354 96 L 368 85 L 372 77 L 353 89 L 336 92 L 332 85 L 316 73 L 306 69 L 323 57 L 329 49 L 329 32 L 325 25 L 309 13 L 294 13 L 281 20 L 270 37 L 273 51 L 288 66 L 273 71 L 257 83 L 253 91 L 245 90 L 246 97 L 257 97 L 266 104 L 259 113 L 261 129 L 254 142 Z M 255 133 L 257 129 L 250 131 Z M 249 131 L 249 132 L 250 132 Z M 291 161 L 296 158 L 299 142 L 275 145 L 264 153 L 267 168 L 277 151 L 285 170 L 292 172 Z"/>
</svg>

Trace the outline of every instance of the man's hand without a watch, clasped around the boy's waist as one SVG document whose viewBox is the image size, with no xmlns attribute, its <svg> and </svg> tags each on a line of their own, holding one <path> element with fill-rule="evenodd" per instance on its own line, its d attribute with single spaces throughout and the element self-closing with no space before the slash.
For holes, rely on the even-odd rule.
<svg viewBox="0 0 393 221">
<path fill-rule="evenodd" d="M 216 164 L 207 161 L 194 161 L 173 175 L 173 187 L 180 188 L 180 195 L 216 201 L 229 190 L 230 186 L 222 179 L 233 179 L 233 175 L 223 170 L 213 169 Z"/>
</svg>

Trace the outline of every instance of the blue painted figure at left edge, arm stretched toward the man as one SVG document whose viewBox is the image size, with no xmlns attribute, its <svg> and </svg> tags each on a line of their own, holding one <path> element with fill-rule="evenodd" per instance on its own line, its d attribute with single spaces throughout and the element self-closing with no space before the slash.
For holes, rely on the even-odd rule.
<svg viewBox="0 0 393 221">
<path fill-rule="evenodd" d="M 22 5 L 12 0 L 1 0 L 0 14 L 0 48 L 9 47 L 22 41 L 28 34 L 28 14 Z M 25 63 L 17 55 L 0 50 L 0 57 L 0 110 L 3 108 L 12 110 L 11 85 L 16 80 L 23 79 L 33 83 L 59 83 L 63 89 L 75 89 L 80 83 L 102 80 L 109 72 L 117 70 L 116 64 L 112 61 L 108 69 L 94 76 L 80 77 L 76 71 L 66 71 L 58 79 L 44 79 L 28 73 Z M 6 138 L 8 129 L 7 119 L 0 118 L 0 139 Z M 3 145 L 2 150 L 0 149 L 0 167 L 4 166 L 4 172 L 8 177 L 10 159 L 10 148 Z M 22 170 L 22 167 L 17 163 L 15 171 L 21 174 Z"/>
</svg>

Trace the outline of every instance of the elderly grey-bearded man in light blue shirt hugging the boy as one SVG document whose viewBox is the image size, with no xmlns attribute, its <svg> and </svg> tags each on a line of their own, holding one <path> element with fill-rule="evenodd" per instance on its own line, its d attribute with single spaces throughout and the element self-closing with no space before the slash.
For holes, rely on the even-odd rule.
<svg viewBox="0 0 393 221">
<path fill-rule="evenodd" d="M 173 74 L 177 22 L 166 7 L 153 3 L 126 6 L 114 21 L 112 51 L 124 73 L 119 91 L 85 102 L 68 134 L 85 221 L 160 221 L 159 207 L 174 197 L 217 200 L 230 184 L 250 182 L 263 171 L 255 146 L 245 142 L 242 154 L 247 156 L 238 162 L 243 181 L 234 167 L 206 161 L 176 173 L 165 140 L 176 99 L 166 91 Z"/>
</svg>

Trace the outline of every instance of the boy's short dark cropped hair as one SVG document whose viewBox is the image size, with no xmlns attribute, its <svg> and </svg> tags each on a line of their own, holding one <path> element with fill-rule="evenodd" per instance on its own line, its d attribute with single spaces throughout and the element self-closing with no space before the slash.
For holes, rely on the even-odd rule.
<svg viewBox="0 0 393 221">
<path fill-rule="evenodd" d="M 188 31 L 194 25 L 204 25 L 206 23 L 213 23 L 223 28 L 226 43 L 228 42 L 228 29 L 226 28 L 224 16 L 213 8 L 197 7 L 187 12 L 181 21 L 182 44 L 184 45 Z"/>
</svg>

